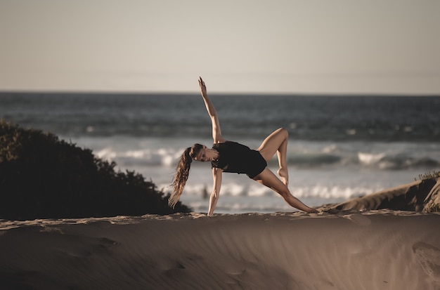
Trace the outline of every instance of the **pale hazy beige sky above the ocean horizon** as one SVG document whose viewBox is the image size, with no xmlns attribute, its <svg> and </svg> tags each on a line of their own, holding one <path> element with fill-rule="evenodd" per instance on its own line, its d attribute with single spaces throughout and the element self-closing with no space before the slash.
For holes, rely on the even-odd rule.
<svg viewBox="0 0 440 290">
<path fill-rule="evenodd" d="M 0 0 L 0 91 L 440 95 L 438 0 Z"/>
</svg>

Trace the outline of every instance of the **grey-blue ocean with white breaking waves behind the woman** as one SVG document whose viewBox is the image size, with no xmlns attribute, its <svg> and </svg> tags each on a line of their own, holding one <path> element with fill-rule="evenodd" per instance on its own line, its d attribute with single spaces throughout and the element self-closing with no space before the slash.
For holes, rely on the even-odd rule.
<svg viewBox="0 0 440 290">
<path fill-rule="evenodd" d="M 210 94 L 224 138 L 259 147 L 285 127 L 289 188 L 320 206 L 410 183 L 440 165 L 440 96 Z M 198 93 L 0 93 L 0 118 L 87 147 L 170 192 L 193 143 L 212 146 Z M 268 164 L 276 172 L 276 156 Z M 193 162 L 181 201 L 207 212 L 212 173 Z M 224 173 L 216 213 L 295 211 L 244 174 Z"/>
</svg>

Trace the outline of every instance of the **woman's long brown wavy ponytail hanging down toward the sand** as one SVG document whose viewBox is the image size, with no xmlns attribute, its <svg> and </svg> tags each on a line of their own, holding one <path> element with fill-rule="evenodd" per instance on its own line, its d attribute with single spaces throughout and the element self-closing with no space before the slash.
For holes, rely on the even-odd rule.
<svg viewBox="0 0 440 290">
<path fill-rule="evenodd" d="M 180 157 L 179 164 L 177 164 L 176 168 L 176 174 L 174 175 L 172 182 L 173 193 L 168 199 L 168 205 L 171 206 L 173 209 L 174 206 L 176 206 L 177 202 L 179 202 L 180 196 L 183 192 L 183 187 L 185 187 L 186 180 L 188 180 L 191 162 L 193 162 L 193 158 L 197 156 L 202 147 L 203 145 L 194 144 L 193 147 L 186 148 L 186 150 Z"/>
</svg>

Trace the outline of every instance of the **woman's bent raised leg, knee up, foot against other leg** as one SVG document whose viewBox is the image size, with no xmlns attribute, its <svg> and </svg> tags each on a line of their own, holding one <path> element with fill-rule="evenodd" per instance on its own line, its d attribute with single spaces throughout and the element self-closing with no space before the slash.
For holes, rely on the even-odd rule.
<svg viewBox="0 0 440 290">
<path fill-rule="evenodd" d="M 267 136 L 257 149 L 261 153 L 261 156 L 266 159 L 266 162 L 269 162 L 275 153 L 277 154 L 278 164 L 280 164 L 280 169 L 278 169 L 277 173 L 286 186 L 289 185 L 289 173 L 287 171 L 288 139 L 289 133 L 287 130 L 285 128 L 279 128 Z"/>
</svg>

